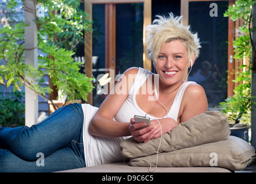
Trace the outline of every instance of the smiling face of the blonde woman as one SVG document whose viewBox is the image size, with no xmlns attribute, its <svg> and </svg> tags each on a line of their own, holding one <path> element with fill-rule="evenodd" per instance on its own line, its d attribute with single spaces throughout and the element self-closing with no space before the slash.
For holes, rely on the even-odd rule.
<svg viewBox="0 0 256 184">
<path fill-rule="evenodd" d="M 155 69 L 163 84 L 175 85 L 183 83 L 188 66 L 188 54 L 183 40 L 172 40 L 165 43 L 158 53 Z"/>
</svg>

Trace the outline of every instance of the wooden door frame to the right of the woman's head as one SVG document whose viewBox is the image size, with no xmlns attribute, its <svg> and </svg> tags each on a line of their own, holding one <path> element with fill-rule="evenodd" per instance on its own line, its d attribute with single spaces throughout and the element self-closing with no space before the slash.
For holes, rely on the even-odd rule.
<svg viewBox="0 0 256 184">
<path fill-rule="evenodd" d="M 188 9 L 189 9 L 189 2 L 199 2 L 199 1 L 211 1 L 211 0 L 181 0 L 180 1 L 180 15 L 183 16 L 182 24 L 188 25 Z M 229 1 L 228 5 L 233 5 L 235 1 L 231 0 L 215 0 L 215 1 Z M 232 81 L 235 79 L 235 74 L 237 69 L 237 62 L 233 58 L 233 41 L 235 39 L 235 22 L 228 19 L 228 89 L 227 89 L 227 96 L 232 96 L 233 89 L 235 88 L 235 83 Z"/>
</svg>

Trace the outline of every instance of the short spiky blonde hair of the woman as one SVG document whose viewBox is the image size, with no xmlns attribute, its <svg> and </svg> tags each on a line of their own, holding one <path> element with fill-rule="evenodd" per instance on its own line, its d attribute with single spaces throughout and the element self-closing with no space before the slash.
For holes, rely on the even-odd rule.
<svg viewBox="0 0 256 184">
<path fill-rule="evenodd" d="M 188 61 L 194 56 L 198 57 L 199 48 L 201 48 L 198 34 L 191 33 L 189 25 L 184 26 L 181 24 L 182 16 L 174 17 L 172 13 L 169 13 L 169 18 L 164 16 L 157 16 L 157 18 L 152 25 L 148 25 L 145 28 L 147 51 L 149 59 L 152 59 L 154 64 L 157 62 L 157 55 L 164 43 L 172 40 L 184 41 L 184 46 L 187 48 Z"/>
</svg>

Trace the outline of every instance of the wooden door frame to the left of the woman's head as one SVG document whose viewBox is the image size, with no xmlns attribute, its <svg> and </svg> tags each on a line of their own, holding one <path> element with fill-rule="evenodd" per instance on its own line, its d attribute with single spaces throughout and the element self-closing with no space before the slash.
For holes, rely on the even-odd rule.
<svg viewBox="0 0 256 184">
<path fill-rule="evenodd" d="M 84 0 L 84 11 L 90 14 L 92 20 L 92 4 L 106 4 L 107 11 L 105 26 L 106 29 L 106 68 L 116 67 L 116 4 L 117 3 L 144 3 L 143 30 L 150 25 L 151 20 L 151 0 Z M 143 31 L 143 67 L 151 71 L 151 60 L 147 57 L 147 45 L 145 43 L 145 33 Z M 92 32 L 84 34 L 84 57 L 85 73 L 92 77 Z M 92 104 L 92 93 L 88 95 L 87 103 Z"/>
</svg>

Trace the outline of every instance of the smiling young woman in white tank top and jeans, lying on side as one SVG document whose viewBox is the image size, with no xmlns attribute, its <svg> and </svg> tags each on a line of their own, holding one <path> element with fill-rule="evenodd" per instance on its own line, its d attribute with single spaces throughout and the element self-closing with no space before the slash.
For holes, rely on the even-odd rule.
<svg viewBox="0 0 256 184">
<path fill-rule="evenodd" d="M 129 68 L 99 109 L 71 104 L 30 128 L 0 128 L 0 172 L 50 172 L 121 162 L 120 141 L 133 136 L 146 144 L 205 112 L 205 91 L 184 81 L 198 57 L 199 40 L 180 20 L 170 13 L 147 26 L 149 58 L 157 74 Z M 134 115 L 150 117 L 151 125 L 135 123 Z"/>
</svg>

